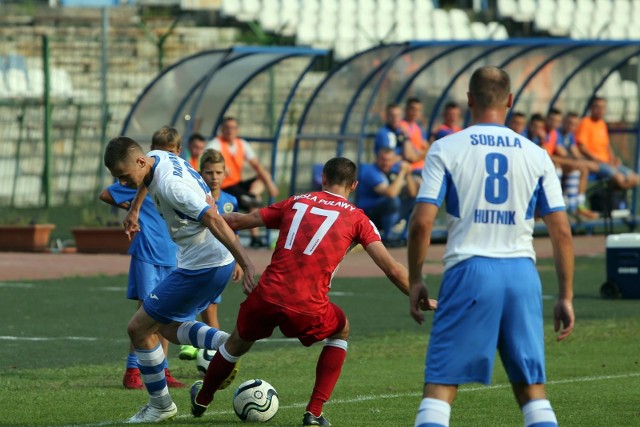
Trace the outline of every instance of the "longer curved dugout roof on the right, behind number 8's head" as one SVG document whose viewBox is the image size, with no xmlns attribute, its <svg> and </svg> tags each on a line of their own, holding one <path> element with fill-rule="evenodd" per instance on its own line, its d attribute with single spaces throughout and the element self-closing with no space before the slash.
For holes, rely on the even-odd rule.
<svg viewBox="0 0 640 427">
<path fill-rule="evenodd" d="M 383 124 L 390 102 L 420 98 L 430 134 L 448 101 L 466 110 L 469 78 L 482 65 L 497 65 L 510 74 L 511 111 L 545 114 L 556 107 L 584 114 L 596 93 L 607 97 L 606 119 L 621 124 L 617 132 L 633 134 L 635 164 L 629 166 L 638 170 L 639 55 L 639 41 L 569 39 L 412 41 L 360 52 L 326 76 L 302 113 L 291 192 L 306 186 L 306 180 L 297 182 L 304 177 L 298 167 L 305 163 L 305 155 L 309 158 L 309 151 L 333 151 L 357 159 L 358 164 L 372 160 L 372 136 Z M 602 93 L 604 89 L 608 91 Z"/>
</svg>

